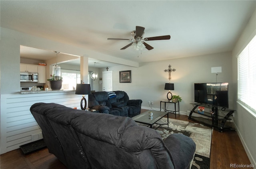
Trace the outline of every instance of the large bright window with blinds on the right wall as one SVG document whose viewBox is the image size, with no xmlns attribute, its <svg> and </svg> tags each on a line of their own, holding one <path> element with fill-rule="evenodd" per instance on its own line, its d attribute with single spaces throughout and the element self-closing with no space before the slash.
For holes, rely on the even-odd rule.
<svg viewBox="0 0 256 169">
<path fill-rule="evenodd" d="M 238 101 L 256 113 L 256 36 L 238 55 Z"/>
</svg>

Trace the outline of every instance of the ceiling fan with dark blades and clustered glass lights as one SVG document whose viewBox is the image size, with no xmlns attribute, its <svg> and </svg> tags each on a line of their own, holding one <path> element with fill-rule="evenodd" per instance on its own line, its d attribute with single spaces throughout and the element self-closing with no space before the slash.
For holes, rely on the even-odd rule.
<svg viewBox="0 0 256 169">
<path fill-rule="evenodd" d="M 108 40 L 133 41 L 132 43 L 129 43 L 125 47 L 121 48 L 121 50 L 126 49 L 129 46 L 134 47 L 134 49 L 136 49 L 136 50 L 140 50 L 140 49 L 144 49 L 144 48 L 151 50 L 151 49 L 154 49 L 154 47 L 148 45 L 148 43 L 146 43 L 144 41 L 167 40 L 167 39 L 171 38 L 170 35 L 164 35 L 164 36 L 146 37 L 143 39 L 144 29 L 145 29 L 144 27 L 136 26 L 136 30 L 132 31 L 133 39 L 108 38 Z"/>
</svg>

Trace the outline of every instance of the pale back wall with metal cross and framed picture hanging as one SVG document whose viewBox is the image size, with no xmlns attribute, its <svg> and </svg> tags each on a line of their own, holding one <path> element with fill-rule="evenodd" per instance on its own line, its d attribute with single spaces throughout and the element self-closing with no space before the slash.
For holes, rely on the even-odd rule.
<svg viewBox="0 0 256 169">
<path fill-rule="evenodd" d="M 145 58 L 146 60 L 146 58 Z M 113 71 L 113 90 L 124 90 L 130 99 L 142 99 L 142 108 L 149 108 L 148 101 L 153 101 L 153 108 L 160 110 L 160 101 L 167 99 L 168 90 L 164 90 L 165 83 L 174 83 L 172 94 L 180 95 L 180 110 L 187 114 L 194 102 L 194 83 L 216 82 L 216 74 L 211 73 L 211 67 L 222 67 L 218 73 L 218 82 L 232 82 L 231 52 L 211 55 L 170 59 L 166 61 L 145 62 L 140 67 L 115 66 L 109 67 Z M 176 69 L 168 80 L 168 65 Z M 131 70 L 132 83 L 119 83 L 119 71 Z M 102 69 L 102 71 L 105 71 Z M 232 89 L 232 84 L 229 85 Z M 232 90 L 229 98 L 232 98 Z M 163 106 L 163 105 L 162 105 Z M 230 99 L 232 108 L 232 99 Z"/>
</svg>

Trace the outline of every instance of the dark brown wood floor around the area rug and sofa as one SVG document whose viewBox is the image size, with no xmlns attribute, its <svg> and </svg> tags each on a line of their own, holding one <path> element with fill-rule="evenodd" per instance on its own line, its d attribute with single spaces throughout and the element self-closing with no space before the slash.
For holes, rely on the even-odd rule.
<svg viewBox="0 0 256 169">
<path fill-rule="evenodd" d="M 142 110 L 143 112 L 144 110 Z M 169 118 L 175 118 L 169 114 Z M 177 120 L 188 120 L 188 116 L 176 115 Z M 23 155 L 20 149 L 4 153 L 0 156 L 1 169 L 67 169 L 48 149 Z M 235 131 L 212 134 L 210 169 L 229 169 L 230 164 L 250 164 L 248 156 Z"/>
</svg>

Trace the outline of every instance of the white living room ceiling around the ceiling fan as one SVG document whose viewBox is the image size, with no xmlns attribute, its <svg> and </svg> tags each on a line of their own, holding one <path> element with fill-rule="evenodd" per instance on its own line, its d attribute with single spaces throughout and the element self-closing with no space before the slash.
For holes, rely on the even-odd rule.
<svg viewBox="0 0 256 169">
<path fill-rule="evenodd" d="M 3 28 L 141 63 L 232 51 L 256 1 L 1 0 L 0 7 Z M 171 39 L 147 41 L 154 49 L 141 52 L 120 50 L 130 41 L 107 40 L 130 39 L 136 26 L 145 27 L 144 37 Z"/>
</svg>

